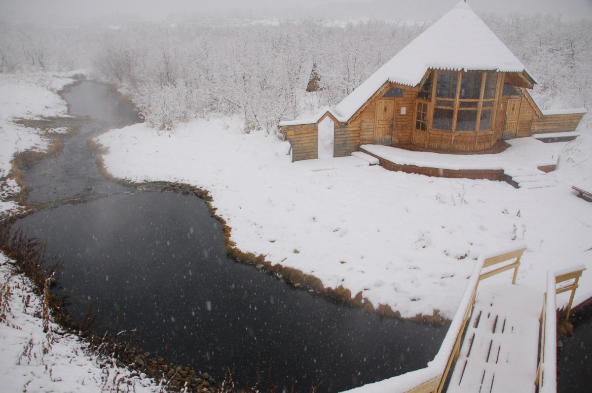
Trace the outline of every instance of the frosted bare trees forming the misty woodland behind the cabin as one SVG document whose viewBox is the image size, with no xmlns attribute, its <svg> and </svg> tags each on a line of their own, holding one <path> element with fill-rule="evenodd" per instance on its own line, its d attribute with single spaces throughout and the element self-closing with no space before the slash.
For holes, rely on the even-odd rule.
<svg viewBox="0 0 592 393">
<path fill-rule="evenodd" d="M 544 108 L 561 98 L 590 107 L 592 22 L 551 16 L 485 22 L 538 81 Z M 275 133 L 281 120 L 335 105 L 427 28 L 387 21 L 78 27 L 0 24 L 3 73 L 89 69 L 133 94 L 151 127 L 240 115 L 244 131 Z M 313 72 L 318 90 L 305 89 Z"/>
</svg>

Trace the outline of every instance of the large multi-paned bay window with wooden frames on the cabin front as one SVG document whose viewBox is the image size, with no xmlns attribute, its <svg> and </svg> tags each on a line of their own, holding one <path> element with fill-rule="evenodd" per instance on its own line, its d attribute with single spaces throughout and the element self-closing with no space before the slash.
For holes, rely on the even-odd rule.
<svg viewBox="0 0 592 393">
<path fill-rule="evenodd" d="M 487 131 L 492 126 L 497 82 L 497 72 L 436 70 L 420 88 L 418 98 L 431 101 L 435 85 L 432 127 L 436 130 Z M 418 105 L 416 128 L 421 130 L 419 116 Z"/>
</svg>

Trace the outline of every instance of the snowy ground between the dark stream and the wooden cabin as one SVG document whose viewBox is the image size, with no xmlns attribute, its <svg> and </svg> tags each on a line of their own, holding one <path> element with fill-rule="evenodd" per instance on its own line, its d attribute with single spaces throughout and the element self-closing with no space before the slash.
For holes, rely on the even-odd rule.
<svg viewBox="0 0 592 393">
<path fill-rule="evenodd" d="M 287 142 L 243 134 L 230 119 L 195 120 L 171 134 L 137 124 L 98 141 L 118 178 L 207 189 L 243 252 L 362 292 L 403 317 L 439 310 L 452 318 L 475 259 L 513 241 L 528 246 L 519 282 L 541 292 L 547 269 L 592 268 L 592 204 L 571 190 L 592 175 L 592 134 L 580 131 L 555 144 L 558 169 L 548 176 L 556 184 L 542 189 L 390 172 L 352 157 L 313 172 L 291 163 Z M 519 149 L 528 163 L 525 143 L 516 145 L 508 153 Z M 577 296 L 590 295 L 584 273 Z"/>
</svg>

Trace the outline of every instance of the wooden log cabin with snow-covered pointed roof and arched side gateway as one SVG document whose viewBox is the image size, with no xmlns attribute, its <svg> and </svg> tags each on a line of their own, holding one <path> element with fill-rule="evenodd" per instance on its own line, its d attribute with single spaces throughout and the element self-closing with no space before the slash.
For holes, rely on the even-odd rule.
<svg viewBox="0 0 592 393">
<path fill-rule="evenodd" d="M 487 152 L 500 140 L 574 131 L 585 109 L 541 111 L 535 79 L 465 2 L 435 22 L 335 108 L 279 124 L 292 161 L 318 157 L 318 124 L 334 123 L 333 156 L 363 144 Z"/>
</svg>

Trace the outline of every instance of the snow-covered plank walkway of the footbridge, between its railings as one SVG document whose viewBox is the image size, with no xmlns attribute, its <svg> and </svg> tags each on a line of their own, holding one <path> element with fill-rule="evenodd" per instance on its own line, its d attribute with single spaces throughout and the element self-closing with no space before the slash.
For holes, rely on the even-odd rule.
<svg viewBox="0 0 592 393">
<path fill-rule="evenodd" d="M 523 286 L 481 290 L 447 392 L 534 393 L 541 309 Z"/>
</svg>

